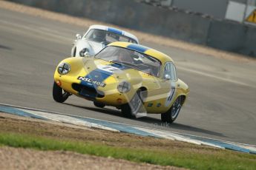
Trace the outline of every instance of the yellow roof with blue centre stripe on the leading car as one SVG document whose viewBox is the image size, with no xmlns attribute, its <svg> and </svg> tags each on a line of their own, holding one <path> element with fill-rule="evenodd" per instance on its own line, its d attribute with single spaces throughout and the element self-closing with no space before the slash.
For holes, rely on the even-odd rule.
<svg viewBox="0 0 256 170">
<path fill-rule="evenodd" d="M 132 43 L 128 43 L 128 42 L 118 41 L 118 42 L 108 44 L 108 46 L 123 47 L 123 48 L 127 48 L 127 49 L 134 50 L 137 52 L 142 52 L 146 55 L 150 55 L 154 58 L 157 58 L 158 60 L 160 60 L 162 62 L 162 64 L 165 64 L 168 61 L 174 62 L 171 57 L 169 57 L 168 55 L 165 55 L 163 52 L 154 50 L 150 47 L 142 46 L 140 44 L 132 44 Z"/>
</svg>

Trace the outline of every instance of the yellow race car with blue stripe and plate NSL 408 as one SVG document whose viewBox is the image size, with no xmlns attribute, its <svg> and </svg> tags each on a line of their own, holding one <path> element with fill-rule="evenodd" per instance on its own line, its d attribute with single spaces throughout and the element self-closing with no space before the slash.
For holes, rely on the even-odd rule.
<svg viewBox="0 0 256 170">
<path fill-rule="evenodd" d="M 98 107 L 115 106 L 129 118 L 160 113 L 172 123 L 188 92 L 168 55 L 127 42 L 111 43 L 93 57 L 66 58 L 54 73 L 55 101 L 73 94 Z"/>
</svg>

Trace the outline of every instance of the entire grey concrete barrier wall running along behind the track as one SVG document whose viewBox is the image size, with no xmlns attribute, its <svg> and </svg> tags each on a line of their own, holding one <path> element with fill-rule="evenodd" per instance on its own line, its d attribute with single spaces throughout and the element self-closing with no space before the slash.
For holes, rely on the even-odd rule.
<svg viewBox="0 0 256 170">
<path fill-rule="evenodd" d="M 256 57 L 256 27 L 131 0 L 10 0 Z"/>
</svg>

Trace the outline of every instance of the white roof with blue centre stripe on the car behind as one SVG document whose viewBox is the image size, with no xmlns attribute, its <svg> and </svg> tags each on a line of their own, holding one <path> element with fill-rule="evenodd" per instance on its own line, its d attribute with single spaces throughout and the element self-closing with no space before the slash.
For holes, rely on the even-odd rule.
<svg viewBox="0 0 256 170">
<path fill-rule="evenodd" d="M 91 25 L 91 27 L 89 27 L 89 30 L 91 30 L 91 29 L 107 30 L 109 32 L 116 33 L 116 34 L 119 34 L 119 35 L 125 35 L 128 38 L 134 39 L 139 44 L 139 40 L 135 35 L 133 35 L 131 33 L 128 33 L 124 30 L 119 30 L 119 29 L 116 29 L 114 27 L 108 27 L 108 26 L 105 26 L 105 25 Z"/>
</svg>

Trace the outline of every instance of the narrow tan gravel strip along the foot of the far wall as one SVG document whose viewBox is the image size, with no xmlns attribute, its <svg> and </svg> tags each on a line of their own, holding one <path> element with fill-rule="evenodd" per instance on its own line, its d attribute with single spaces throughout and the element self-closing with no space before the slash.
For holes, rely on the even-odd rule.
<svg viewBox="0 0 256 170">
<path fill-rule="evenodd" d="M 74 16 L 68 16 L 62 13 L 55 13 L 47 10 L 42 10 L 35 7 L 28 7 L 22 4 L 16 4 L 10 1 L 4 1 L 0 0 L 0 7 L 7 9 L 7 10 L 13 10 L 19 13 L 26 13 L 32 16 L 39 16 L 42 18 L 48 18 L 52 19 L 53 21 L 61 21 L 68 24 L 76 24 L 82 27 L 89 27 L 92 24 L 105 24 L 110 27 L 117 27 L 115 25 L 111 25 L 108 23 L 102 23 L 99 21 L 93 21 L 88 18 L 77 18 Z M 137 35 L 137 37 L 140 39 L 140 41 L 147 41 L 151 43 L 156 43 L 160 45 L 165 45 L 168 47 L 176 47 L 182 50 L 188 50 L 191 52 L 199 52 L 203 55 L 211 55 L 216 58 L 225 58 L 228 60 L 235 60 L 235 61 L 243 61 L 243 62 L 249 62 L 249 61 L 256 61 L 255 58 L 249 58 L 249 56 L 246 55 L 239 55 L 233 52 L 226 52 L 222 50 L 216 50 L 211 47 L 205 47 L 197 44 L 190 44 L 185 41 L 179 41 L 172 38 L 165 38 L 160 35 L 152 35 L 148 33 L 142 33 L 140 31 L 135 30 L 129 30 L 123 27 L 117 27 L 121 30 L 126 30 L 128 32 L 133 33 L 134 35 Z"/>
</svg>

